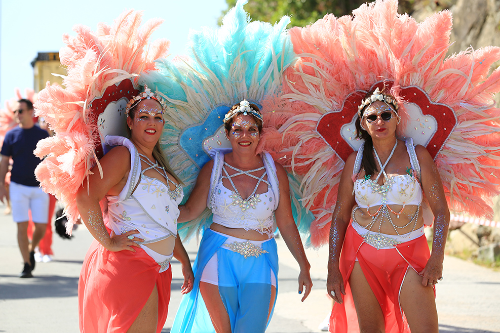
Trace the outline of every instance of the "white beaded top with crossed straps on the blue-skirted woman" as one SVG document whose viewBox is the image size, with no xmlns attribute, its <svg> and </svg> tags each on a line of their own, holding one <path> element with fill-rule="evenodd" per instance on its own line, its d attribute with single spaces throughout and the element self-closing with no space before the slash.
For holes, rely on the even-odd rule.
<svg viewBox="0 0 500 333">
<path fill-rule="evenodd" d="M 235 174 L 229 175 L 227 169 L 233 169 Z M 224 175 L 219 178 L 211 197 L 211 209 L 213 222 L 228 228 L 243 228 L 245 230 L 256 230 L 261 234 L 273 237 L 275 195 L 270 182 L 265 180 L 267 175 L 264 166 L 254 170 L 242 171 L 232 165 L 223 162 L 222 172 Z M 264 170 L 260 177 L 251 173 Z M 257 184 L 252 194 L 244 199 L 241 197 L 233 180 L 236 176 L 251 177 L 257 179 Z M 222 184 L 222 179 L 228 179 L 233 189 L 228 189 Z M 267 191 L 257 194 L 257 188 L 260 183 L 267 184 Z"/>
</svg>

